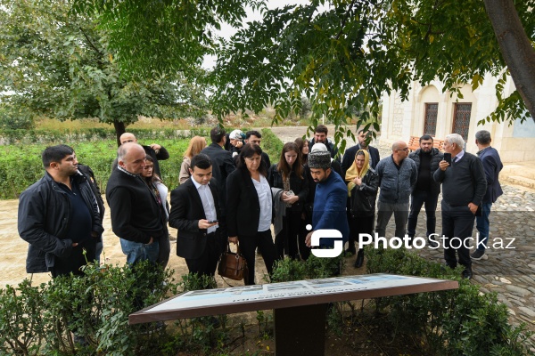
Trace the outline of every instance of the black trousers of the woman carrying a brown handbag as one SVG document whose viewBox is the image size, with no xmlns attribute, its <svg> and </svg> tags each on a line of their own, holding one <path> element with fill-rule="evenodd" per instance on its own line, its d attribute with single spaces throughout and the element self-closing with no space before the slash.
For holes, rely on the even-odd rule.
<svg viewBox="0 0 535 356">
<path fill-rule="evenodd" d="M 271 236 L 271 230 L 259 231 L 253 236 L 238 236 L 240 243 L 240 252 L 247 261 L 247 267 L 249 268 L 249 274 L 245 285 L 253 285 L 254 283 L 254 264 L 255 264 L 255 251 L 259 247 L 262 253 L 264 263 L 266 263 L 266 269 L 269 275 L 273 272 L 273 266 L 278 258 L 276 253 L 275 244 L 273 243 L 273 237 Z"/>
</svg>

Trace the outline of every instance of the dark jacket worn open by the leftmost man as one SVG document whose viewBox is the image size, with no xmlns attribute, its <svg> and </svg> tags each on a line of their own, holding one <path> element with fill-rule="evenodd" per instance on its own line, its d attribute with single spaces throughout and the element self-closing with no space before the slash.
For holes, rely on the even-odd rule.
<svg viewBox="0 0 535 356">
<path fill-rule="evenodd" d="M 77 174 L 74 179 L 91 213 L 92 231 L 100 236 L 104 231 L 102 220 L 86 176 Z M 28 273 L 50 271 L 56 256 L 70 256 L 72 240 L 66 236 L 69 221 L 70 199 L 50 174 L 45 173 L 43 178 L 21 193 L 18 228 L 21 239 L 29 242 Z"/>
</svg>

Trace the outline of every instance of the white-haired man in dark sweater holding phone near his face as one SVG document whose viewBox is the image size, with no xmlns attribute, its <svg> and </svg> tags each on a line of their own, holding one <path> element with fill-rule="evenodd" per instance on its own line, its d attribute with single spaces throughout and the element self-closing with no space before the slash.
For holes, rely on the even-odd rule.
<svg viewBox="0 0 535 356">
<path fill-rule="evenodd" d="M 481 160 L 465 152 L 464 147 L 460 134 L 446 136 L 444 160 L 440 161 L 440 169 L 435 171 L 433 179 L 442 183 L 444 259 L 450 268 L 456 268 L 457 251 L 458 263 L 465 267 L 463 278 L 471 279 L 472 260 L 467 239 L 472 236 L 475 214 L 487 190 L 487 180 Z"/>
</svg>

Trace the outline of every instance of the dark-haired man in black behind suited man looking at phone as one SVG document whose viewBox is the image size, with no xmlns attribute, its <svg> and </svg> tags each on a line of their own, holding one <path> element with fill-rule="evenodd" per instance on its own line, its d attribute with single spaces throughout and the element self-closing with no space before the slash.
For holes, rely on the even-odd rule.
<svg viewBox="0 0 535 356">
<path fill-rule="evenodd" d="M 226 133 L 222 127 L 214 127 L 210 130 L 209 146 L 202 149 L 201 153 L 210 158 L 212 163 L 212 175 L 218 182 L 219 202 L 222 210 L 225 210 L 226 202 L 226 177 L 236 169 L 232 154 L 225 150 Z"/>
</svg>

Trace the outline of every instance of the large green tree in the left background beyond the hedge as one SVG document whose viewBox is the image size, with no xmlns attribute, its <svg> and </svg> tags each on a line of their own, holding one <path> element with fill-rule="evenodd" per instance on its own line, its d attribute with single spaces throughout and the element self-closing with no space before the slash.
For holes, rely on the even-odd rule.
<svg viewBox="0 0 535 356">
<path fill-rule="evenodd" d="M 117 136 L 137 117 L 202 117 L 202 85 L 181 75 L 121 77 L 96 16 L 67 0 L 0 0 L 0 100 L 61 120 L 98 117 Z M 202 77 L 202 74 L 199 75 Z"/>
</svg>

